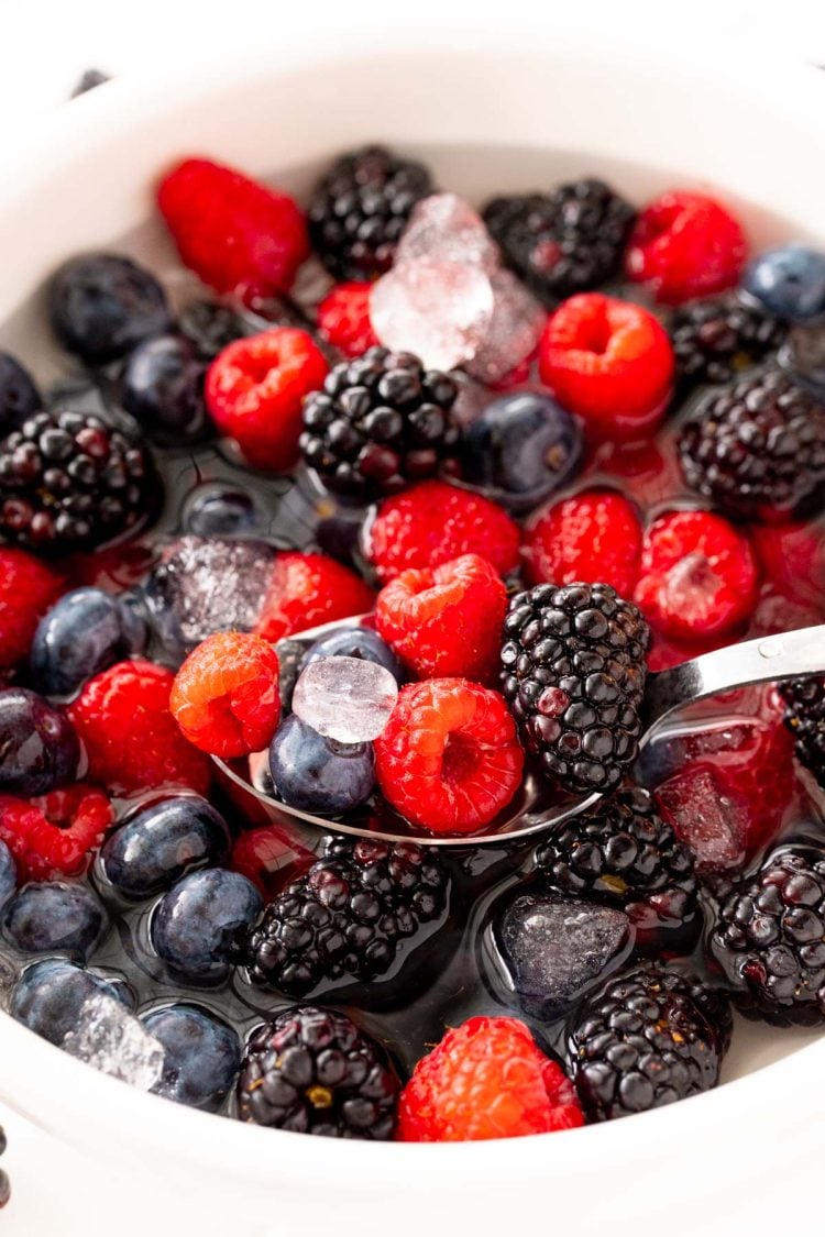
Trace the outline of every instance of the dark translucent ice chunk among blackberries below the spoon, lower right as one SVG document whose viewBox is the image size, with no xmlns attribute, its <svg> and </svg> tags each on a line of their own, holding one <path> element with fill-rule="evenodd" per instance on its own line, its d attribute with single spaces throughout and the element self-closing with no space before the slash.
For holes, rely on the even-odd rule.
<svg viewBox="0 0 825 1237">
<path fill-rule="evenodd" d="M 498 945 L 526 1013 L 554 1018 L 630 955 L 623 910 L 558 894 L 522 894 L 498 924 Z"/>
</svg>

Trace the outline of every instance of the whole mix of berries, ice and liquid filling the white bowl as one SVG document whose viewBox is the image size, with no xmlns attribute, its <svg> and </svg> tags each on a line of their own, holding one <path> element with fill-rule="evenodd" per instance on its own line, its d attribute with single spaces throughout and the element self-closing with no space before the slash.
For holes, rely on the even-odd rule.
<svg viewBox="0 0 825 1237">
<path fill-rule="evenodd" d="M 9 1013 L 402 1142 L 825 1023 L 825 673 L 639 750 L 648 673 L 825 621 L 825 255 L 693 190 L 477 214 L 376 146 L 304 207 L 204 158 L 157 204 L 189 276 L 73 257 L 66 376 L 0 354 Z M 595 799 L 510 837 L 537 793 Z"/>
</svg>

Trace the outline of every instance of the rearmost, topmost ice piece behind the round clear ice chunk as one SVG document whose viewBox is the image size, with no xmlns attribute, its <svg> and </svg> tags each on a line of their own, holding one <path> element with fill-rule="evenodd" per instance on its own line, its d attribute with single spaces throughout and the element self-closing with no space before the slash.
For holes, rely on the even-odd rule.
<svg viewBox="0 0 825 1237">
<path fill-rule="evenodd" d="M 419 202 L 396 249 L 395 265 L 458 262 L 492 275 L 498 246 L 477 214 L 455 193 L 434 193 Z"/>
</svg>

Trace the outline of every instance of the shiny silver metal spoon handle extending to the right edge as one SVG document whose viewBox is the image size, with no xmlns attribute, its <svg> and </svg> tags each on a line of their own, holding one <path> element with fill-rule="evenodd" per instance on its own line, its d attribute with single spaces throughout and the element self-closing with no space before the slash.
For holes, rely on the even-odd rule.
<svg viewBox="0 0 825 1237">
<path fill-rule="evenodd" d="M 752 683 L 825 674 L 825 626 L 801 627 L 719 648 L 651 674 L 644 691 L 646 738 L 677 709 Z"/>
</svg>

